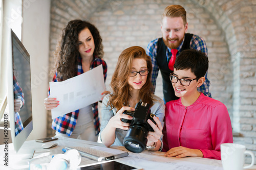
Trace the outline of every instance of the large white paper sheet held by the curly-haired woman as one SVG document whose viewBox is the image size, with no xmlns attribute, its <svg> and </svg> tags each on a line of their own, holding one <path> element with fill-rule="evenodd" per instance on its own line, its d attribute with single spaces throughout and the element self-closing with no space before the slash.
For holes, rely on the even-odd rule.
<svg viewBox="0 0 256 170">
<path fill-rule="evenodd" d="M 59 101 L 52 119 L 98 102 L 105 89 L 102 64 L 68 80 L 50 82 L 50 98 Z"/>
</svg>

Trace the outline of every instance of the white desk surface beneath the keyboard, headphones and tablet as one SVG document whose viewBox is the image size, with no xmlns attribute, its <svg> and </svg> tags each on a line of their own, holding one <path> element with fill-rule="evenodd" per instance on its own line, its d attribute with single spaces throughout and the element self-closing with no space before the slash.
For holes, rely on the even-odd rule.
<svg viewBox="0 0 256 170">
<path fill-rule="evenodd" d="M 52 155 L 52 154 L 60 154 L 62 153 L 62 148 L 65 147 L 92 147 L 99 146 L 104 147 L 102 143 L 90 142 L 72 138 L 59 138 L 58 140 L 54 140 L 53 142 L 58 143 L 58 145 L 51 149 L 42 149 L 40 142 L 36 142 L 34 140 L 26 141 L 23 144 L 22 149 L 35 149 L 35 154 L 32 159 L 39 158 L 42 156 Z M 127 151 L 124 147 L 110 147 L 111 149 L 118 149 Z M 8 146 L 8 167 L 4 166 L 4 145 L 0 145 L 0 169 L 28 169 L 28 162 L 32 159 L 21 159 L 17 154 L 14 153 L 12 143 Z M 127 151 L 129 152 L 129 151 Z M 143 151 L 142 153 L 136 154 L 129 152 L 129 156 L 118 159 L 119 161 L 136 165 L 139 167 L 143 167 L 144 169 L 187 169 L 187 170 L 198 170 L 198 169 L 214 169 L 221 170 L 222 163 L 220 160 L 207 159 L 207 158 L 197 158 L 197 157 L 186 157 L 186 158 L 167 158 L 161 152 L 151 152 L 151 151 Z M 82 157 L 80 165 L 95 163 L 96 161 Z M 256 169 L 254 165 L 252 168 Z"/>
</svg>

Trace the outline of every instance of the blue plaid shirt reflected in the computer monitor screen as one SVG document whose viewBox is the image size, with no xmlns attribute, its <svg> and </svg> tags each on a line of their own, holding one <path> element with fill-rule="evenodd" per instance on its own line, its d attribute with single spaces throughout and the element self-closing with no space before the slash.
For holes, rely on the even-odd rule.
<svg viewBox="0 0 256 170">
<path fill-rule="evenodd" d="M 24 100 L 24 93 L 22 91 L 22 88 L 19 86 L 18 81 L 13 74 L 13 93 L 14 93 L 14 99 L 19 99 L 22 101 L 23 106 L 25 103 Z M 20 115 L 18 112 L 14 112 L 14 122 L 15 122 L 15 136 L 20 133 L 24 127 L 22 124 L 22 118 L 20 118 Z"/>
</svg>

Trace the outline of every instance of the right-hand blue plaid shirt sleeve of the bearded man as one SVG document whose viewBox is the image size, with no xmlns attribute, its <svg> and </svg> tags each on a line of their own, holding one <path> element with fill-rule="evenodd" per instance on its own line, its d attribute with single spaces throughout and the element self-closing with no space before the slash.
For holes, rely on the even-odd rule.
<svg viewBox="0 0 256 170">
<path fill-rule="evenodd" d="M 193 37 L 191 38 L 190 48 L 196 49 L 198 51 L 200 50 L 201 52 L 205 53 L 206 56 L 208 56 L 207 47 L 206 47 L 206 43 L 205 43 L 204 39 L 197 35 L 193 35 Z M 206 74 L 204 76 L 205 77 L 204 83 L 202 84 L 202 86 L 198 87 L 197 90 L 211 98 L 211 93 L 209 92 L 210 81 L 207 79 L 207 73 L 208 73 L 208 71 L 206 72 Z"/>
</svg>

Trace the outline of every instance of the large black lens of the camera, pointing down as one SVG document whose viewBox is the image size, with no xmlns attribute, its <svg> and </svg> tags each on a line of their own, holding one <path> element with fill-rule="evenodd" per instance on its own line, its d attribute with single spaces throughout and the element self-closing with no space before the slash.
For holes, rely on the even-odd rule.
<svg viewBox="0 0 256 170">
<path fill-rule="evenodd" d="M 123 140 L 124 147 L 131 152 L 141 153 L 146 149 L 147 133 L 148 131 L 144 126 L 133 125 Z"/>
</svg>

